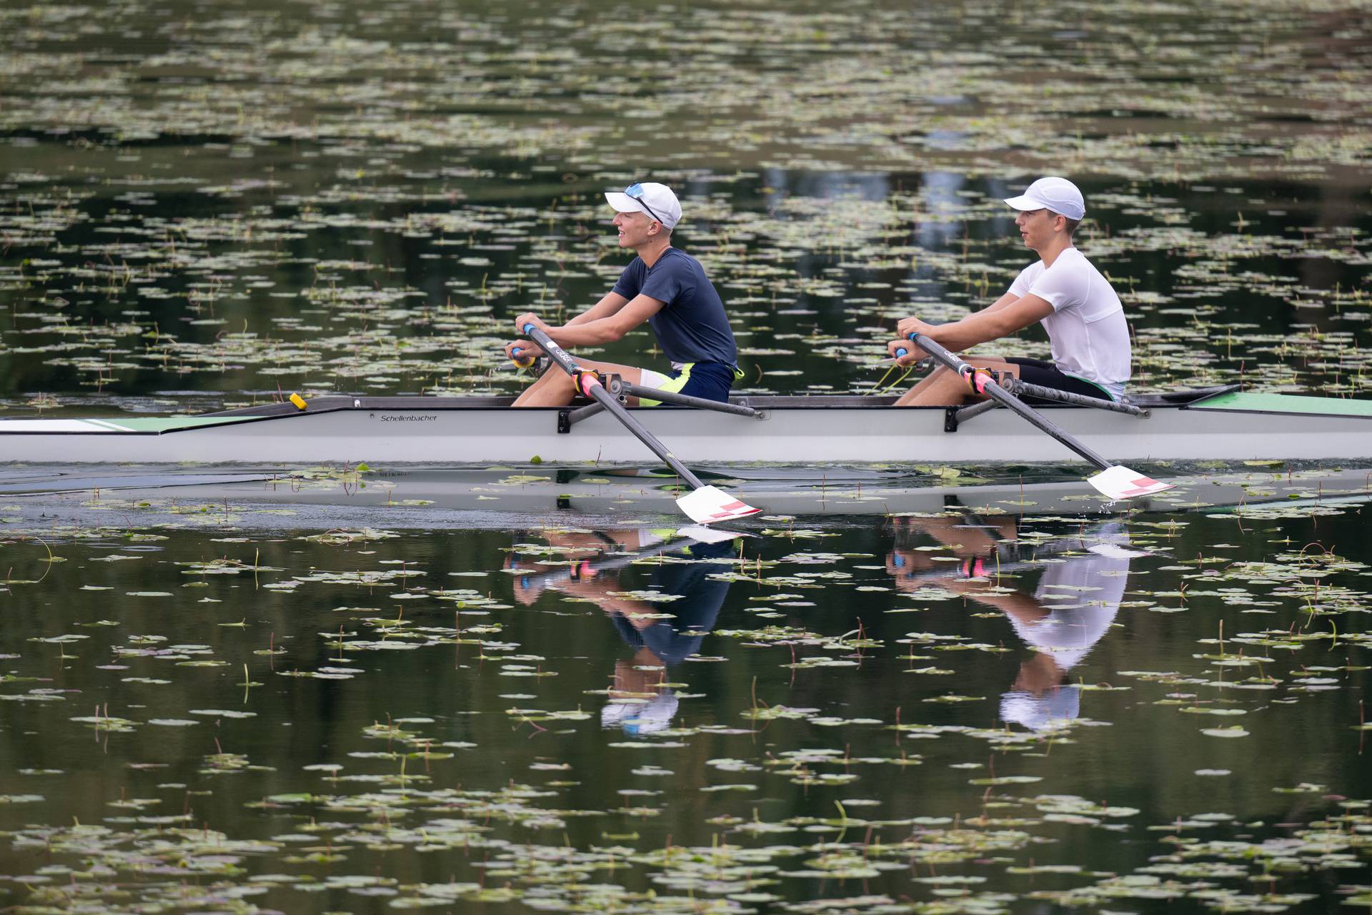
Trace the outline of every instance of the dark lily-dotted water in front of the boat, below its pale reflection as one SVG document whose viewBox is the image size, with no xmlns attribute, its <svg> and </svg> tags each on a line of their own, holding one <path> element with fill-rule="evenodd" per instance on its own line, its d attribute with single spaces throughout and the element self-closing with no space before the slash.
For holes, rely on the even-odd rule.
<svg viewBox="0 0 1372 915">
<path fill-rule="evenodd" d="M 992 520 L 11 542 L 8 896 L 1335 905 L 1360 509 Z"/>
</svg>

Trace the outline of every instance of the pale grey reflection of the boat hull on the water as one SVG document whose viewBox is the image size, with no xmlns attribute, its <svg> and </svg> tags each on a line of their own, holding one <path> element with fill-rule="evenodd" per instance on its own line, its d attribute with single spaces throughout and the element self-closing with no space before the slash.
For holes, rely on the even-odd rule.
<svg viewBox="0 0 1372 915">
<path fill-rule="evenodd" d="M 1107 505 L 1076 476 L 1025 473 L 985 480 L 962 472 L 900 473 L 875 469 L 704 468 L 707 479 L 768 514 L 882 516 L 938 513 L 958 502 L 985 516 L 1044 513 L 1174 512 L 1258 503 L 1297 506 L 1302 499 L 1334 506 L 1369 498 L 1367 468 L 1286 466 L 1185 473 L 1159 479 L 1177 488 Z M 737 476 L 722 476 L 737 473 Z M 1155 472 L 1157 473 L 1157 472 Z M 1047 479 L 1044 479 L 1047 477 Z M 963 482 L 965 480 L 965 482 Z M 1037 480 L 1037 482 L 1036 482 Z M 959 484 L 959 482 L 963 482 Z M 233 523 L 274 528 L 509 528 L 520 524 L 611 524 L 616 519 L 672 516 L 679 495 L 671 476 L 606 469 L 521 466 L 483 471 L 377 469 L 368 473 L 303 471 L 276 475 L 189 468 L 11 468 L 0 471 L 7 517 L 34 524 L 108 523 L 113 509 L 134 510 L 121 523 L 184 524 L 189 506 L 233 512 Z M 764 519 L 766 521 L 766 519 Z"/>
</svg>

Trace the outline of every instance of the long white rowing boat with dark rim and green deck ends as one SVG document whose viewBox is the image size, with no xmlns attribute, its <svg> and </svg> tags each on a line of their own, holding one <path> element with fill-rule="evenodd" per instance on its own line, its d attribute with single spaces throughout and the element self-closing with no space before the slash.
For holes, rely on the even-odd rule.
<svg viewBox="0 0 1372 915">
<path fill-rule="evenodd" d="M 892 407 L 882 396 L 748 396 L 752 416 L 632 410 L 682 461 L 890 464 L 1063 462 L 1076 455 L 1004 409 Z M 0 462 L 86 464 L 641 464 L 645 449 L 589 407 L 509 409 L 494 396 L 325 395 L 222 413 L 0 420 Z M 1372 458 L 1372 401 L 1235 387 L 1133 399 L 1146 416 L 1039 407 L 1117 460 Z"/>
</svg>

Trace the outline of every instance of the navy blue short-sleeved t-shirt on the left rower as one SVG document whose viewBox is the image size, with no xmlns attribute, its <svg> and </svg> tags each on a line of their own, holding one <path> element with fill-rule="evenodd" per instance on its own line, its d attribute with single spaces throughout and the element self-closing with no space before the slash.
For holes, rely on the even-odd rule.
<svg viewBox="0 0 1372 915">
<path fill-rule="evenodd" d="M 738 364 L 738 346 L 724 303 L 700 261 L 685 251 L 667 248 L 652 269 L 642 258 L 634 258 L 619 276 L 615 292 L 626 299 L 642 294 L 667 303 L 648 322 L 674 365 Z"/>
</svg>

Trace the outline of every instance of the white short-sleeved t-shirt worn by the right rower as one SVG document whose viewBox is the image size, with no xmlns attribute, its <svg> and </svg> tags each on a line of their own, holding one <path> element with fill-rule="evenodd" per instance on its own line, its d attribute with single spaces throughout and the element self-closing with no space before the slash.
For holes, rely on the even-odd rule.
<svg viewBox="0 0 1372 915">
<path fill-rule="evenodd" d="M 1043 326 L 1059 372 L 1092 381 L 1120 399 L 1132 375 L 1129 325 L 1120 296 L 1081 251 L 1065 250 L 1051 268 L 1043 261 L 1030 263 L 1010 284 L 1010 294 L 1033 294 L 1052 306 Z"/>
</svg>

